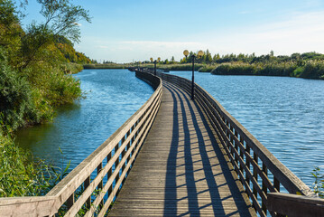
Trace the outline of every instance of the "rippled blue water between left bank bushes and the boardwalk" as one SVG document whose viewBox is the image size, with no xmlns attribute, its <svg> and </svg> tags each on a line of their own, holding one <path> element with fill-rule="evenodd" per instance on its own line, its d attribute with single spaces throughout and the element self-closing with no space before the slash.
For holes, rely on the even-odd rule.
<svg viewBox="0 0 324 217">
<path fill-rule="evenodd" d="M 84 70 L 75 75 L 87 99 L 65 106 L 53 123 L 23 129 L 16 142 L 34 156 L 70 169 L 90 155 L 151 97 L 151 86 L 127 70 Z M 63 155 L 60 154 L 60 149 Z"/>
</svg>

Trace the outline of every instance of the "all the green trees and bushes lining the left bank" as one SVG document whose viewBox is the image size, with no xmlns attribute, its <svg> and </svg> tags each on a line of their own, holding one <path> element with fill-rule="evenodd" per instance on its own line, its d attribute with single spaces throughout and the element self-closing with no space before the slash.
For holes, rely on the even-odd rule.
<svg viewBox="0 0 324 217">
<path fill-rule="evenodd" d="M 45 22 L 23 31 L 13 1 L 0 1 L 0 196 L 41 195 L 67 174 L 15 146 L 13 131 L 50 121 L 58 106 L 79 99 L 79 80 L 69 74 L 90 62 L 69 41 L 79 40 L 76 23 L 89 21 L 88 12 L 69 0 L 38 2 Z"/>
</svg>

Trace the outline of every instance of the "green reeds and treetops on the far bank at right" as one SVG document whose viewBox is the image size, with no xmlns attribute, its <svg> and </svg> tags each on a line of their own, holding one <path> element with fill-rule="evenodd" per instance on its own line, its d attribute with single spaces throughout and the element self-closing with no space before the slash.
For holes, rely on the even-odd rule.
<svg viewBox="0 0 324 217">
<path fill-rule="evenodd" d="M 195 53 L 190 52 L 188 57 L 181 60 L 181 64 L 191 62 L 193 54 Z M 214 54 L 211 58 L 211 53 L 207 50 L 195 62 L 210 64 L 209 66 L 203 65 L 199 71 L 210 71 L 218 75 L 266 75 L 324 79 L 324 55 L 317 52 L 292 53 L 291 56 L 274 56 L 273 51 L 261 56 L 255 56 L 255 53 L 251 55 L 231 53 L 221 57 L 219 54 Z M 186 70 L 190 70 L 189 67 Z"/>
</svg>

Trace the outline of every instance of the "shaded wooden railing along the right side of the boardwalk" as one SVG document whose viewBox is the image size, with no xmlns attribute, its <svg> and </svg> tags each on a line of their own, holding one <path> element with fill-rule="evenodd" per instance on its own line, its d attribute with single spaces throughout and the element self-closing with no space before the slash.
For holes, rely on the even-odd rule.
<svg viewBox="0 0 324 217">
<path fill-rule="evenodd" d="M 157 75 L 162 80 L 180 86 L 182 90 L 190 94 L 190 80 L 171 74 L 157 73 Z M 292 193 L 306 195 L 305 198 L 315 197 L 315 199 L 312 198 L 312 202 L 315 200 L 323 203 L 323 200 L 316 198 L 316 195 L 310 191 L 306 184 L 292 174 L 285 165 L 282 165 L 236 118 L 233 118 L 216 99 L 197 84 L 195 85 L 195 100 L 206 114 L 210 125 L 217 132 L 236 175 L 245 187 L 245 192 L 255 211 L 260 216 L 267 214 L 273 216 L 288 214 L 289 216 L 289 213 L 276 210 L 275 206 L 269 209 L 272 203 L 268 201 L 268 193 L 279 193 L 281 190 L 288 192 L 285 193 L 287 195 Z"/>
</svg>

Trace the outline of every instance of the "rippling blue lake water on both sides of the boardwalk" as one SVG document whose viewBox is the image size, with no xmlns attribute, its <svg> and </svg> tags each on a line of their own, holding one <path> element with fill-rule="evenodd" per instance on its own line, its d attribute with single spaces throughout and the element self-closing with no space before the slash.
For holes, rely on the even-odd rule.
<svg viewBox="0 0 324 217">
<path fill-rule="evenodd" d="M 191 79 L 190 71 L 171 74 Z M 324 171 L 324 80 L 195 74 L 274 156 L 311 185 L 314 166 Z M 153 89 L 126 70 L 85 70 L 75 75 L 87 99 L 59 110 L 53 123 L 18 133 L 35 156 L 74 168 L 150 98 Z M 63 154 L 60 154 L 60 149 Z"/>
</svg>

